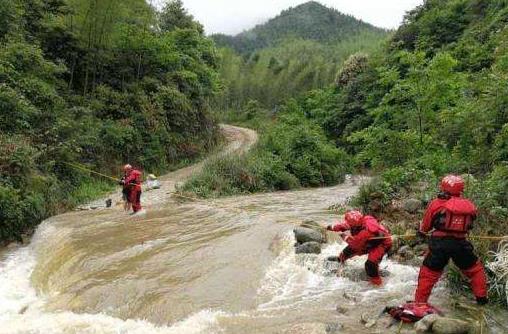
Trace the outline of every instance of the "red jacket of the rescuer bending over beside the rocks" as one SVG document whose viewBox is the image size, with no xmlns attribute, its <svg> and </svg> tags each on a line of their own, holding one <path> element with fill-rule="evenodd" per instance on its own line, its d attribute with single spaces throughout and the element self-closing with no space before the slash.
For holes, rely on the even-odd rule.
<svg viewBox="0 0 508 334">
<path fill-rule="evenodd" d="M 347 236 L 344 240 L 356 253 L 364 253 L 369 248 L 378 245 L 383 245 L 385 248 L 392 246 L 390 232 L 372 216 L 363 217 L 360 226 L 351 227 L 347 222 L 342 222 L 333 226 L 332 230 L 335 232 L 351 231 L 351 236 Z M 386 239 L 372 240 L 377 237 L 386 237 Z"/>
</svg>

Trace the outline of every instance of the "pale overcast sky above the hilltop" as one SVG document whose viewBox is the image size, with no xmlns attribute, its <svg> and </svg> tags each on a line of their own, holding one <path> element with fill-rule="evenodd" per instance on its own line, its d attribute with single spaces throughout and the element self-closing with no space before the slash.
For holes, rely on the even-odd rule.
<svg viewBox="0 0 508 334">
<path fill-rule="evenodd" d="M 165 0 L 148 0 L 161 4 Z M 308 0 L 183 0 L 207 33 L 236 34 Z M 320 0 L 328 7 L 383 28 L 396 28 L 407 10 L 423 0 Z"/>
</svg>

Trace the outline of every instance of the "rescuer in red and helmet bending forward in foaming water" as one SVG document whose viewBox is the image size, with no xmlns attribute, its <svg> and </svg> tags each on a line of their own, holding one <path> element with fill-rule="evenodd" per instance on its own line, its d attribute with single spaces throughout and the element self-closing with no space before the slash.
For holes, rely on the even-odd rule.
<svg viewBox="0 0 508 334">
<path fill-rule="evenodd" d="M 348 246 L 339 255 L 338 260 L 346 260 L 368 254 L 365 271 L 371 284 L 379 286 L 383 283 L 379 276 L 379 264 L 383 256 L 392 248 L 392 239 L 387 228 L 372 216 L 363 216 L 359 211 L 346 212 L 345 221 L 336 225 L 329 225 L 327 230 L 340 232 Z M 382 238 L 372 240 L 372 238 Z"/>
</svg>

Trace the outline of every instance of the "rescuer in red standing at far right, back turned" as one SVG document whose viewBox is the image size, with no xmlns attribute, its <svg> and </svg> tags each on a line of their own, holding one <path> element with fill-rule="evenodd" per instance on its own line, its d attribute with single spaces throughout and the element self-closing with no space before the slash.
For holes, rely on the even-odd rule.
<svg viewBox="0 0 508 334">
<path fill-rule="evenodd" d="M 474 254 L 473 245 L 466 240 L 476 219 L 476 207 L 470 200 L 462 198 L 464 180 L 461 177 L 446 176 L 441 181 L 440 188 L 441 193 L 429 204 L 420 225 L 421 235 L 431 231 L 432 234 L 429 239 L 429 252 L 420 268 L 415 302 L 428 302 L 432 288 L 452 259 L 469 278 L 477 303 L 487 304 L 485 270 Z"/>
</svg>

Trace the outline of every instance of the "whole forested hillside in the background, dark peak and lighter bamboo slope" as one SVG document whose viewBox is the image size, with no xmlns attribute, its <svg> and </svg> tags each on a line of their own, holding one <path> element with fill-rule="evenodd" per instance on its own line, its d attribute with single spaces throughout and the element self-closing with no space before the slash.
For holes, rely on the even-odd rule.
<svg viewBox="0 0 508 334">
<path fill-rule="evenodd" d="M 274 108 L 335 80 L 342 62 L 373 52 L 388 32 L 317 2 L 283 11 L 237 36 L 212 36 L 221 49 L 225 90 L 216 108 L 233 113 L 250 100 Z"/>
</svg>

